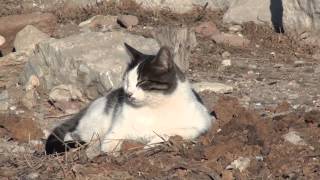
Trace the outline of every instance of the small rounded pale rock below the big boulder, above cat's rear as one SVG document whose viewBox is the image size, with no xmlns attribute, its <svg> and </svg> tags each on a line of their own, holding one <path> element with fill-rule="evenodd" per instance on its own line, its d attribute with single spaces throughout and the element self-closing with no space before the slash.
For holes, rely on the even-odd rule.
<svg viewBox="0 0 320 180">
<path fill-rule="evenodd" d="M 56 101 L 71 101 L 71 100 L 82 100 L 82 93 L 79 89 L 72 85 L 61 84 L 51 89 L 49 93 L 49 100 Z"/>
</svg>

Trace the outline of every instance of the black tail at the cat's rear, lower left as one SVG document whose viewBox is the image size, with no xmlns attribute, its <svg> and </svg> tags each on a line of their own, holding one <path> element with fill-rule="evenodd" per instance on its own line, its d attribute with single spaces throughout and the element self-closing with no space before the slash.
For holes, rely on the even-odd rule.
<svg viewBox="0 0 320 180">
<path fill-rule="evenodd" d="M 63 153 L 77 147 L 79 144 L 85 144 L 85 142 L 80 140 L 64 141 L 66 135 L 76 129 L 83 114 L 84 111 L 80 112 L 53 130 L 46 141 L 45 150 L 47 154 Z"/>
</svg>

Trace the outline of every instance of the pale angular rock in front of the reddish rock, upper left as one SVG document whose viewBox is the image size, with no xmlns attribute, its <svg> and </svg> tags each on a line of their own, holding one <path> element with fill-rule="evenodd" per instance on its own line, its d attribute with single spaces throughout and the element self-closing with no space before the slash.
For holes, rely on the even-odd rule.
<svg viewBox="0 0 320 180">
<path fill-rule="evenodd" d="M 23 50 L 33 50 L 36 44 L 49 38 L 49 35 L 46 33 L 41 32 L 32 25 L 27 25 L 17 33 L 13 44 L 18 52 Z"/>
</svg>

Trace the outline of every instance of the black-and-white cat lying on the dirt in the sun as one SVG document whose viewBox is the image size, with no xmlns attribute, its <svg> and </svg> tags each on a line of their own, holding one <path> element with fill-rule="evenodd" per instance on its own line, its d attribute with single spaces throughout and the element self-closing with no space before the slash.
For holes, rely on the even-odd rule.
<svg viewBox="0 0 320 180">
<path fill-rule="evenodd" d="M 93 139 L 99 140 L 101 152 L 119 150 L 123 139 L 152 146 L 174 135 L 194 139 L 211 127 L 215 118 L 174 63 L 168 47 L 146 55 L 124 46 L 131 62 L 122 86 L 56 127 L 46 141 L 47 154 Z"/>
</svg>

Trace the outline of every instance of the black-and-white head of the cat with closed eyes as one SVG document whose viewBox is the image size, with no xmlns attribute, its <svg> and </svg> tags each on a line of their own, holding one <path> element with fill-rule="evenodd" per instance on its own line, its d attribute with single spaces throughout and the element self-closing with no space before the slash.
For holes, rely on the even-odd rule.
<svg viewBox="0 0 320 180">
<path fill-rule="evenodd" d="M 168 47 L 146 55 L 125 43 L 131 62 L 123 78 L 126 98 L 135 105 L 157 103 L 173 93 L 184 75 L 173 62 Z"/>
</svg>

